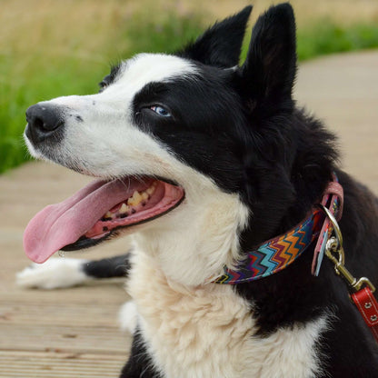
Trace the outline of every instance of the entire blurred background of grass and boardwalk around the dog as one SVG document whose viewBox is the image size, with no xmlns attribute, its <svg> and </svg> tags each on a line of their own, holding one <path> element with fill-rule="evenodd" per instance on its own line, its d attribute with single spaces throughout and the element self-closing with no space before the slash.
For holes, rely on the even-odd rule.
<svg viewBox="0 0 378 378">
<path fill-rule="evenodd" d="M 275 1 L 277 4 L 280 1 Z M 293 0 L 299 66 L 294 98 L 340 135 L 343 166 L 378 194 L 378 0 Z M 30 264 L 27 221 L 92 178 L 28 159 L 25 110 L 66 94 L 91 94 L 110 65 L 139 52 L 173 52 L 215 20 L 271 0 L 0 0 L 0 378 L 116 377 L 130 335 L 116 313 L 124 283 L 31 291 L 15 285 Z M 358 51 L 356 54 L 333 53 Z M 65 257 L 124 253 L 120 238 Z M 56 256 L 58 257 L 58 256 Z M 99 305 L 101 303 L 101 305 Z"/>
</svg>

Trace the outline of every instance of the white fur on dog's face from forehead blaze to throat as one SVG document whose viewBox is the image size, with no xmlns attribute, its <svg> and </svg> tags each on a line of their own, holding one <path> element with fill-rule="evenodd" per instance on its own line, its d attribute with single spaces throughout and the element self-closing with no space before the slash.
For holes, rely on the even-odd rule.
<svg viewBox="0 0 378 378">
<path fill-rule="evenodd" d="M 184 187 L 183 204 L 136 227 L 143 231 L 139 242 L 144 250 L 157 255 L 165 274 L 183 284 L 201 284 L 221 274 L 224 264 L 232 265 L 249 215 L 238 194 L 224 193 L 177 158 L 169 145 L 133 123 L 134 96 L 144 85 L 195 74 L 193 64 L 176 56 L 137 55 L 120 67 L 102 93 L 49 102 L 66 109 L 64 138 L 52 149 L 59 163 L 69 161 L 104 178 L 160 176 Z"/>
</svg>

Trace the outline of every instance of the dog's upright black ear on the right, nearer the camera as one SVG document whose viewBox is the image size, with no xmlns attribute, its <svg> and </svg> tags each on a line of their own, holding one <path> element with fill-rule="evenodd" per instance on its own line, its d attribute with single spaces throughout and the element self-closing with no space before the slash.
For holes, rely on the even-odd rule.
<svg viewBox="0 0 378 378">
<path fill-rule="evenodd" d="M 272 6 L 254 25 L 247 57 L 238 73 L 244 95 L 252 106 L 293 104 L 295 72 L 293 8 L 288 3 Z"/>
</svg>

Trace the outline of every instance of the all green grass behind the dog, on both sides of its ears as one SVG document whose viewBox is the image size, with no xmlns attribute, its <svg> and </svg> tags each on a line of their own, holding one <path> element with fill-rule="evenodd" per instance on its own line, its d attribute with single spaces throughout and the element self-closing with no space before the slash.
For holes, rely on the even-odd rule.
<svg viewBox="0 0 378 378">
<path fill-rule="evenodd" d="M 70 39 L 65 50 L 56 47 L 54 40 L 29 50 L 0 50 L 0 173 L 28 159 L 22 134 L 30 104 L 65 94 L 94 93 L 110 64 L 143 51 L 172 52 L 199 35 L 204 21 L 172 12 L 158 18 L 134 15 L 126 22 L 117 19 L 108 40 L 88 52 L 83 53 L 85 38 L 92 35 Z M 298 31 L 301 61 L 373 47 L 378 47 L 378 25 L 341 26 L 326 19 Z"/>
</svg>

